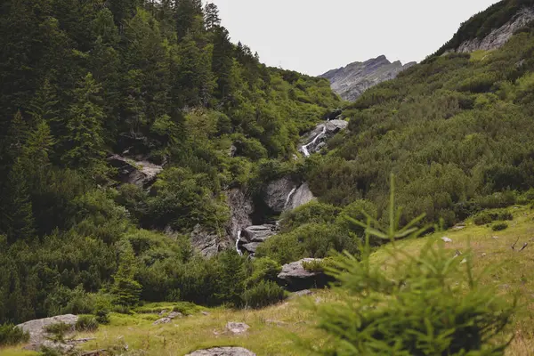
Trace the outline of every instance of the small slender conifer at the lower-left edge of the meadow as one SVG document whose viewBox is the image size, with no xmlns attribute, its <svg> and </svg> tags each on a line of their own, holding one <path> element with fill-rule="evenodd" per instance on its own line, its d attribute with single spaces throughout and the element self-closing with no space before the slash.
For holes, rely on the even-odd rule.
<svg viewBox="0 0 534 356">
<path fill-rule="evenodd" d="M 117 273 L 113 276 L 111 294 L 117 305 L 134 306 L 139 303 L 142 286 L 134 279 L 135 255 L 129 241 L 122 241 L 119 246 L 119 263 Z"/>
</svg>

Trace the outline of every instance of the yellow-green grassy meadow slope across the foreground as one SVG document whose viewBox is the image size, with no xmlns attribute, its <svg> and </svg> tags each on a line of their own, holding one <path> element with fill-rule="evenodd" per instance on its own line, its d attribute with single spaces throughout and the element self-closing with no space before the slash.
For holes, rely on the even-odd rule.
<svg viewBox="0 0 534 356">
<path fill-rule="evenodd" d="M 484 283 L 498 287 L 499 293 L 510 300 L 519 297 L 519 310 L 514 319 L 515 339 L 511 345 L 510 356 L 530 355 L 534 350 L 534 246 L 526 247 L 521 253 L 513 251 L 510 246 L 519 239 L 517 246 L 525 242 L 532 244 L 534 237 L 534 211 L 528 207 L 514 207 L 514 221 L 509 222 L 506 231 L 494 232 L 490 226 L 475 226 L 468 221 L 466 228 L 460 231 L 446 231 L 433 234 L 425 239 L 399 242 L 406 251 L 417 253 L 427 239 L 447 236 L 453 240 L 446 244 L 451 255 L 456 250 L 465 252 L 468 242 L 473 249 L 474 266 L 477 271 L 487 267 L 491 270 L 484 277 Z M 498 239 L 494 239 L 498 237 Z M 384 268 L 392 268 L 387 262 L 384 247 L 373 255 L 375 263 Z M 312 295 L 320 303 L 333 300 L 336 296 L 329 291 L 319 291 Z M 170 307 L 172 304 L 152 305 L 158 308 Z M 92 337 L 97 340 L 85 344 L 87 350 L 107 348 L 114 344 L 128 344 L 129 350 L 143 350 L 148 355 L 181 356 L 198 348 L 214 345 L 239 345 L 256 352 L 258 355 L 307 355 L 309 352 L 295 346 L 293 335 L 304 336 L 320 343 L 321 334 L 313 329 L 312 313 L 303 308 L 301 300 L 292 299 L 287 303 L 272 306 L 261 311 L 231 311 L 223 308 L 209 310 L 209 315 L 195 312 L 192 316 L 174 320 L 163 326 L 153 326 L 158 319 L 155 314 L 135 314 L 125 316 L 112 315 L 110 326 L 101 329 Z M 278 321 L 273 323 L 269 320 Z M 242 321 L 250 325 L 244 336 L 231 336 L 223 333 L 229 321 Z M 3 356 L 23 354 L 19 347 L 0 351 Z"/>
</svg>

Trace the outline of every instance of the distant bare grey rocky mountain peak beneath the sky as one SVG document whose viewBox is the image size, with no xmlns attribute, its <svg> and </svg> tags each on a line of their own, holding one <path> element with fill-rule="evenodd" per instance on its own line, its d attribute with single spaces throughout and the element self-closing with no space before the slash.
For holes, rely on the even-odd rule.
<svg viewBox="0 0 534 356">
<path fill-rule="evenodd" d="M 355 101 L 369 88 L 397 77 L 402 70 L 417 64 L 415 61 L 402 65 L 401 61 L 388 61 L 384 55 L 375 59 L 355 61 L 346 67 L 332 69 L 320 77 L 327 78 L 332 89 L 346 101 Z"/>
</svg>

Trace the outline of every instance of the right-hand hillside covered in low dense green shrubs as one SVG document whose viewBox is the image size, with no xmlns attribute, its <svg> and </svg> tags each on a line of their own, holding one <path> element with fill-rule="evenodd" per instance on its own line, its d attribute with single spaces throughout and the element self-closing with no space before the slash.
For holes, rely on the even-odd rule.
<svg viewBox="0 0 534 356">
<path fill-rule="evenodd" d="M 474 36 L 470 24 L 483 36 L 525 3 L 494 5 L 455 38 Z M 367 199 L 384 217 L 394 173 L 403 220 L 424 213 L 446 226 L 534 198 L 522 194 L 534 187 L 533 28 L 496 51 L 433 55 L 364 93 L 344 111 L 350 131 L 316 158 L 313 192 L 334 206 Z"/>
</svg>

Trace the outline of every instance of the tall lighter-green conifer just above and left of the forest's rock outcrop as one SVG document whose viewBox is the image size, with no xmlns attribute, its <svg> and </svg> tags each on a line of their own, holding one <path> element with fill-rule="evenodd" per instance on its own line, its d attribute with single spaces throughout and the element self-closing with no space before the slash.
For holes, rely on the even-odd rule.
<svg viewBox="0 0 534 356">
<path fill-rule="evenodd" d="M 104 155 L 101 123 L 104 113 L 101 107 L 101 86 L 91 73 L 78 85 L 75 102 L 69 109 L 68 134 L 62 137 L 65 153 L 62 161 L 71 167 L 89 167 Z"/>
</svg>

